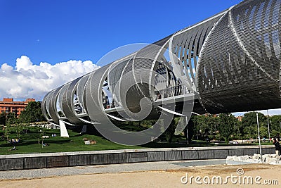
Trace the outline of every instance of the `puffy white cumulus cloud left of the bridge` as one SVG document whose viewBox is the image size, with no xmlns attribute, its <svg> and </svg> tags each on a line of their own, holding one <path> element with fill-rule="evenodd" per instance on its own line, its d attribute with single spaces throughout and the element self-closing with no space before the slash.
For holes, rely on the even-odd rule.
<svg viewBox="0 0 281 188">
<path fill-rule="evenodd" d="M 67 62 L 41 62 L 34 65 L 29 57 L 17 58 L 15 68 L 7 63 L 0 68 L 0 100 L 4 97 L 14 99 L 34 98 L 42 100 L 44 95 L 66 82 L 86 75 L 99 67 L 91 61 L 70 60 Z"/>
</svg>

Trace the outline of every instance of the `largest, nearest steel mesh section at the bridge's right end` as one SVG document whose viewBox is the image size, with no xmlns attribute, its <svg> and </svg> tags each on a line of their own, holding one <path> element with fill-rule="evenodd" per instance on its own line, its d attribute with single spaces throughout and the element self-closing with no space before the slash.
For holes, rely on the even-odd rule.
<svg viewBox="0 0 281 188">
<path fill-rule="evenodd" d="M 202 49 L 198 91 L 210 113 L 280 108 L 280 1 L 244 1 Z"/>
</svg>

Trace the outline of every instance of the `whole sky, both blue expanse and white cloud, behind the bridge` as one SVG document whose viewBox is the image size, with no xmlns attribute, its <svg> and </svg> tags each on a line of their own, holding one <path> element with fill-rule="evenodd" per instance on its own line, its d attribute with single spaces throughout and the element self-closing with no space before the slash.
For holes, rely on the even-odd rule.
<svg viewBox="0 0 281 188">
<path fill-rule="evenodd" d="M 156 42 L 239 3 L 0 0 L 0 100 L 41 100 L 119 46 Z"/>
</svg>

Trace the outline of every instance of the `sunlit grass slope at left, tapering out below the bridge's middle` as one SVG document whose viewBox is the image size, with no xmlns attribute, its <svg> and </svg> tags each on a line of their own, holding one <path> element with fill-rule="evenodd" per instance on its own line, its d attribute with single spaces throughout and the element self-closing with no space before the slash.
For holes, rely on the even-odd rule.
<svg viewBox="0 0 281 188">
<path fill-rule="evenodd" d="M 1 132 L 3 133 L 3 132 Z M 39 138 L 37 129 L 30 129 L 30 132 L 20 134 L 20 142 L 17 144 L 7 143 L 6 139 L 0 141 L 0 155 L 4 154 L 19 154 L 19 153 L 49 153 L 49 152 L 68 152 L 68 151 L 98 151 L 98 150 L 110 150 L 110 149 L 139 149 L 141 146 L 124 146 L 110 142 L 107 139 L 90 134 L 79 134 L 68 130 L 70 134 L 69 138 L 60 137 L 60 130 L 45 130 L 45 135 L 50 138 L 44 139 L 44 144 L 48 146 L 42 146 L 42 139 Z M 56 137 L 51 137 L 52 134 L 56 134 Z M 12 132 L 9 139 L 15 139 L 16 134 Z M 83 138 L 92 139 L 96 141 L 96 144 L 85 145 Z M 9 151 L 15 146 L 15 150 Z"/>
</svg>

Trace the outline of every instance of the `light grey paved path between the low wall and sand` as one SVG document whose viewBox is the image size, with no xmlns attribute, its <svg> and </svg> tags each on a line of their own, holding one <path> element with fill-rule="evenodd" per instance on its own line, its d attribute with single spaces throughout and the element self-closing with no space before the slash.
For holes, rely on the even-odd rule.
<svg viewBox="0 0 281 188">
<path fill-rule="evenodd" d="M 124 163 L 114 165 L 84 165 L 63 168 L 40 168 L 30 170 L 0 171 L 0 180 L 30 179 L 63 175 L 84 175 L 100 173 L 126 173 L 147 170 L 172 170 L 195 165 L 217 165 L 226 163 L 225 159 L 200 161 L 160 161 L 148 163 Z"/>
</svg>

